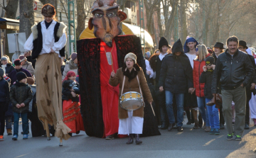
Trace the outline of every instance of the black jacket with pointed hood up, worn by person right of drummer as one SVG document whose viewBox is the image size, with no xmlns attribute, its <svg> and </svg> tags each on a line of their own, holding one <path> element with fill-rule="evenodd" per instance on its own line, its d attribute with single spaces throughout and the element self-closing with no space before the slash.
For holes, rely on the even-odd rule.
<svg viewBox="0 0 256 158">
<path fill-rule="evenodd" d="M 170 54 L 164 57 L 159 86 L 176 94 L 184 94 L 193 87 L 193 69 L 183 52 L 178 56 Z"/>
</svg>

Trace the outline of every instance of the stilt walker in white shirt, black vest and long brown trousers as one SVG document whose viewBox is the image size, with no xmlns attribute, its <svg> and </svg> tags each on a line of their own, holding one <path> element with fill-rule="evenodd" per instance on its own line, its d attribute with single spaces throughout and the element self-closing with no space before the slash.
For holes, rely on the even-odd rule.
<svg viewBox="0 0 256 158">
<path fill-rule="evenodd" d="M 36 60 L 36 102 L 38 118 L 42 121 L 48 140 L 48 124 L 53 125 L 55 137 L 68 140 L 70 129 L 63 123 L 62 113 L 62 79 L 60 72 L 61 57 L 65 57 L 66 26 L 54 21 L 55 8 L 51 4 L 43 6 L 44 21 L 35 24 L 32 33 L 24 44 L 25 54 L 32 50 Z"/>
</svg>

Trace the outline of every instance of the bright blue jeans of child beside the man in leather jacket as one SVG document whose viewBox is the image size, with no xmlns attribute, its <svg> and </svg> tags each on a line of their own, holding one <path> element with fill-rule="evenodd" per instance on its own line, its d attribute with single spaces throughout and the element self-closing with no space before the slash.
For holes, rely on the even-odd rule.
<svg viewBox="0 0 256 158">
<path fill-rule="evenodd" d="M 211 99 L 206 98 L 206 103 L 208 103 Z M 218 128 L 220 129 L 220 119 L 218 115 L 218 108 L 215 108 L 215 105 L 213 106 L 206 106 L 208 111 L 208 118 L 210 122 L 210 128 Z"/>
</svg>

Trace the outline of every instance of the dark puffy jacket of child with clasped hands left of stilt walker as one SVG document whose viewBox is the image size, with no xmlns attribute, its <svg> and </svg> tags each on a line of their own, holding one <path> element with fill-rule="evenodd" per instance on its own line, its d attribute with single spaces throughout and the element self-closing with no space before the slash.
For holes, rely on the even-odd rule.
<svg viewBox="0 0 256 158">
<path fill-rule="evenodd" d="M 32 100 L 33 95 L 31 87 L 28 84 L 23 84 L 16 81 L 16 84 L 11 86 L 10 99 L 13 104 L 14 113 L 27 113 L 29 102 Z M 22 108 L 16 108 L 16 104 L 24 103 Z"/>
</svg>

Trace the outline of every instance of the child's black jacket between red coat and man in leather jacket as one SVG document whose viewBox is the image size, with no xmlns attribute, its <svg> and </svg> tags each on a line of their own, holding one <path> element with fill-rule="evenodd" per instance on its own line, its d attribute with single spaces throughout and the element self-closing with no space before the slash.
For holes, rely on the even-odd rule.
<svg viewBox="0 0 256 158">
<path fill-rule="evenodd" d="M 199 78 L 200 83 L 204 83 L 204 95 L 206 98 L 213 98 L 213 93 L 211 92 L 211 85 L 212 85 L 212 80 L 213 80 L 213 71 L 207 71 L 203 72 Z"/>
</svg>

